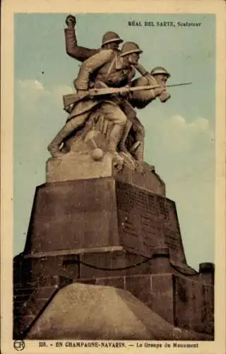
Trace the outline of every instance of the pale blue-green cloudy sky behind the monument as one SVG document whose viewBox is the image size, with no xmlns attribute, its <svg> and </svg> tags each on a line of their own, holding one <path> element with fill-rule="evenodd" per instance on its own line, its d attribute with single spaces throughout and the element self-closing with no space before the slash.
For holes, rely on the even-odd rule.
<svg viewBox="0 0 226 354">
<path fill-rule="evenodd" d="M 80 45 L 97 48 L 108 30 L 137 42 L 148 70 L 165 67 L 167 103 L 157 99 L 138 118 L 145 161 L 176 202 L 189 265 L 214 262 L 215 16 L 210 14 L 76 14 Z M 14 18 L 14 254 L 23 251 L 35 187 L 45 181 L 47 145 L 64 125 L 62 95 L 73 92 L 80 63 L 66 55 L 67 13 L 18 13 Z M 129 27 L 129 21 L 198 22 L 201 27 Z"/>
</svg>

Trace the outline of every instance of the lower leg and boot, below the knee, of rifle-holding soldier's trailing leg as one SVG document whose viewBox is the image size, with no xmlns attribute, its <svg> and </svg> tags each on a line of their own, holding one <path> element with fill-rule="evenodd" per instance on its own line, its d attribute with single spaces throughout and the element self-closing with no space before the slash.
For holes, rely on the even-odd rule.
<svg viewBox="0 0 226 354">
<path fill-rule="evenodd" d="M 54 137 L 52 142 L 47 147 L 52 157 L 59 157 L 65 154 L 65 152 L 61 152 L 61 144 L 64 142 L 64 139 L 66 139 L 66 137 L 68 137 L 71 132 L 73 132 L 74 129 L 75 127 L 73 127 L 71 121 L 69 121 L 64 125 L 64 127 L 62 127 L 56 137 Z"/>
</svg>

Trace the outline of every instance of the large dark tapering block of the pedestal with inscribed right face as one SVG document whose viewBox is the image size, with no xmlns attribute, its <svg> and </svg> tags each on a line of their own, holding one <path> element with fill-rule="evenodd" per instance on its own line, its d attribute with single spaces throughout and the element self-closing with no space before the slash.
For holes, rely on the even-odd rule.
<svg viewBox="0 0 226 354">
<path fill-rule="evenodd" d="M 37 188 L 25 254 L 105 246 L 148 256 L 168 248 L 170 261 L 186 264 L 172 200 L 111 177 Z"/>
</svg>

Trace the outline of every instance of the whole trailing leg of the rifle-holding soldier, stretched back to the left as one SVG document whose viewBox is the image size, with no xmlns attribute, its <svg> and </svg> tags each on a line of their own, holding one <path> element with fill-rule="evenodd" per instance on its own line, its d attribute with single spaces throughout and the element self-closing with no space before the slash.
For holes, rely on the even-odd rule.
<svg viewBox="0 0 226 354">
<path fill-rule="evenodd" d="M 62 127 L 62 129 L 47 147 L 53 157 L 59 157 L 64 155 L 64 153 L 60 150 L 62 142 L 64 142 L 66 137 L 69 137 L 69 135 L 71 135 L 73 130 L 76 130 L 78 127 L 83 125 L 87 117 L 88 113 L 83 113 L 74 118 L 71 118 L 68 122 L 66 122 L 64 127 Z"/>
</svg>

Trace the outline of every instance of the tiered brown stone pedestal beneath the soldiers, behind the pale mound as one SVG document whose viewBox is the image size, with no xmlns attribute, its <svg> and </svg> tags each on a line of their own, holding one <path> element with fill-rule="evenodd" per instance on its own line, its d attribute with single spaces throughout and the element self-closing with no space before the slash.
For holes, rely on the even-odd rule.
<svg viewBox="0 0 226 354">
<path fill-rule="evenodd" d="M 154 167 L 66 159 L 49 159 L 14 260 L 15 337 L 29 333 L 56 285 L 81 282 L 127 290 L 173 326 L 213 338 L 213 265 L 187 265 L 175 203 Z"/>
</svg>

